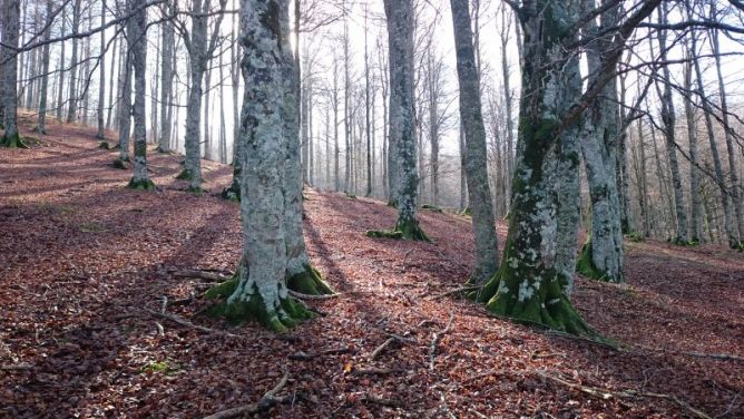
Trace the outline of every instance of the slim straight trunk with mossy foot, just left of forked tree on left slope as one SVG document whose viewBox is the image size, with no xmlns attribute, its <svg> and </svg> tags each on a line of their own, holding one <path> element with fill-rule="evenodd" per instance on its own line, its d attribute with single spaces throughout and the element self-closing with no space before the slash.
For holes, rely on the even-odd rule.
<svg viewBox="0 0 744 419">
<path fill-rule="evenodd" d="M 153 189 L 155 184 L 147 174 L 147 118 L 145 114 L 145 81 L 147 58 L 147 10 L 146 0 L 129 0 L 129 10 L 139 9 L 127 22 L 129 50 L 131 51 L 135 72 L 135 106 L 133 109 L 135 125 L 135 170 L 129 187 L 133 189 Z"/>
</svg>

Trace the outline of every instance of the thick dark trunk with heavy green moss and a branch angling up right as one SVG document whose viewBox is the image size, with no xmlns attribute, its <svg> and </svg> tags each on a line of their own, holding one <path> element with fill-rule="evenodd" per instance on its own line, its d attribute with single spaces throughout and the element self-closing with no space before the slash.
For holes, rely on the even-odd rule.
<svg viewBox="0 0 744 419">
<path fill-rule="evenodd" d="M 525 30 L 522 94 L 518 128 L 518 160 L 512 179 L 511 216 L 499 271 L 478 293 L 479 301 L 499 315 L 535 322 L 576 334 L 595 334 L 565 293 L 569 279 L 556 265 L 558 236 L 557 196 L 551 185 L 564 183 L 559 162 L 566 157 L 561 143 L 566 129 L 578 119 L 615 77 L 613 68 L 625 40 L 660 0 L 645 1 L 613 32 L 601 70 L 578 98 L 574 97 L 575 71 L 565 67 L 576 59 L 569 48 L 577 30 L 597 16 L 579 12 L 579 3 L 550 0 L 523 1 L 517 11 Z M 601 9 L 599 9 L 601 10 Z M 580 81 L 580 79 L 579 79 Z"/>
</svg>

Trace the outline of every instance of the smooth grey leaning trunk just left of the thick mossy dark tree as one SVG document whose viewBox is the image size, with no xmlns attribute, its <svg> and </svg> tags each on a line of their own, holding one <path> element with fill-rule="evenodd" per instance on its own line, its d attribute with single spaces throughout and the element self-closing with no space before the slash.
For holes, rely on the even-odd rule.
<svg viewBox="0 0 744 419">
<path fill-rule="evenodd" d="M 488 185 L 486 128 L 480 100 L 480 77 L 476 65 L 471 32 L 469 0 L 450 0 L 454 28 L 458 82 L 460 86 L 460 119 L 464 128 L 468 192 L 472 210 L 476 241 L 476 270 L 470 282 L 481 284 L 499 267 L 498 244 L 491 189 Z M 435 101 L 430 104 L 435 109 Z"/>
</svg>

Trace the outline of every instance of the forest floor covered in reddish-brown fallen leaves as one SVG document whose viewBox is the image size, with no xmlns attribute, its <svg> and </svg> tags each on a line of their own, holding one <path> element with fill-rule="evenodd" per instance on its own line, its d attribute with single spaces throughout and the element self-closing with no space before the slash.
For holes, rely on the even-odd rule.
<svg viewBox="0 0 744 419">
<path fill-rule="evenodd" d="M 369 238 L 394 210 L 309 188 L 309 252 L 341 294 L 277 337 L 200 315 L 214 281 L 179 275 L 235 269 L 228 166 L 205 162 L 194 196 L 180 157 L 151 153 L 159 189 L 134 192 L 94 129 L 49 131 L 0 149 L 0 418 L 195 418 L 285 373 L 291 397 L 264 417 L 744 417 L 742 253 L 628 242 L 627 285 L 579 277 L 578 310 L 618 351 L 437 298 L 473 264 L 468 218 L 421 211 L 433 243 Z"/>
</svg>

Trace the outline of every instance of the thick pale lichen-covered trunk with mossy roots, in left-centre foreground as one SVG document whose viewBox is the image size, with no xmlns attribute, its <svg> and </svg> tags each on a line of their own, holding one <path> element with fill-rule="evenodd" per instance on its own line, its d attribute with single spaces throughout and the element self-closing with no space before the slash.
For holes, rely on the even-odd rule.
<svg viewBox="0 0 744 419">
<path fill-rule="evenodd" d="M 222 308 L 229 319 L 253 318 L 265 327 L 282 332 L 306 319 L 309 313 L 287 295 L 286 203 L 300 197 L 285 196 L 284 187 L 302 179 L 297 170 L 291 181 L 288 142 L 284 130 L 296 123 L 295 80 L 287 80 L 288 10 L 286 0 L 245 0 L 241 18 L 241 42 L 244 47 L 243 75 L 245 96 L 241 116 L 241 140 L 245 142 L 245 165 L 241 182 L 244 251 L 237 284 Z M 248 65 L 251 64 L 251 65 Z M 258 65 L 256 65 L 258 64 Z M 288 96 L 286 96 L 288 95 Z M 264 106 L 252 106 L 261 98 Z M 281 111 L 280 111 L 281 110 Z M 295 118 L 287 120 L 287 114 Z M 296 134 L 298 127 L 293 130 Z M 297 157 L 294 155 L 293 157 Z M 293 166 L 293 169 L 300 165 Z M 294 186 L 296 192 L 302 185 Z M 300 216 L 302 223 L 302 217 Z"/>
</svg>

